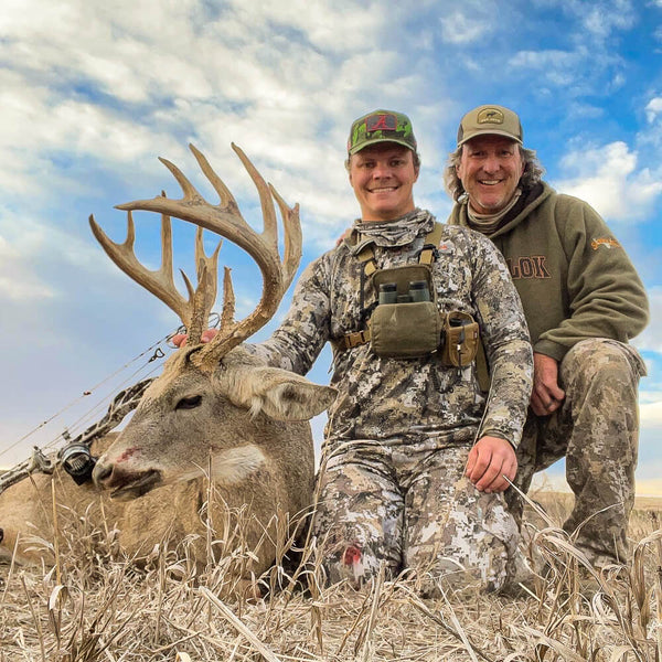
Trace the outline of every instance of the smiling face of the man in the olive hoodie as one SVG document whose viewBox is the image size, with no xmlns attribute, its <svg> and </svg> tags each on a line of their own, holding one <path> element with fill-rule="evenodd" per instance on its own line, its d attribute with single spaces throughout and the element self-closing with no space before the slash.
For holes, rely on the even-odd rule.
<svg viewBox="0 0 662 662">
<path fill-rule="evenodd" d="M 462 146 L 457 173 L 471 209 L 495 214 L 512 200 L 524 172 L 520 148 L 503 136 L 477 136 Z"/>
</svg>

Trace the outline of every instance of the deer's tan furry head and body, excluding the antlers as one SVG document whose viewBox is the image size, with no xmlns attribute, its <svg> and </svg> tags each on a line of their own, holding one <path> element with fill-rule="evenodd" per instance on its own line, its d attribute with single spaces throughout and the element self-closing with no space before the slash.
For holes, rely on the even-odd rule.
<svg viewBox="0 0 662 662">
<path fill-rule="evenodd" d="M 65 523 L 92 517 L 99 528 L 117 531 L 129 557 L 145 558 L 157 545 L 172 547 L 188 537 L 204 564 L 210 520 L 222 540 L 229 535 L 223 530 L 227 514 L 241 513 L 242 542 L 256 552 L 246 572 L 259 575 L 274 563 L 277 520 L 282 524 L 289 514 L 303 522 L 310 512 L 314 460 L 306 419 L 328 407 L 335 391 L 263 366 L 244 348 L 213 373 L 191 363 L 194 352 L 173 354 L 127 427 L 95 444 L 95 483 L 76 485 L 58 469 L 0 494 L 0 560 L 15 552 L 20 564 L 52 564 Z M 191 406 L 197 397 L 200 404 Z M 203 516 L 210 468 L 215 499 Z"/>
</svg>

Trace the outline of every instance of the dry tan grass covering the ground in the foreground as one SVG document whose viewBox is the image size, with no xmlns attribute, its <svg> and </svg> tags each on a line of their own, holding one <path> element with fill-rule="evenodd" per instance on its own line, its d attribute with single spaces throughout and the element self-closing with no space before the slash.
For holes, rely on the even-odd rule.
<svg viewBox="0 0 662 662">
<path fill-rule="evenodd" d="M 597 575 L 558 527 L 572 496 L 534 496 L 546 514 L 532 504 L 528 553 L 548 572 L 516 598 L 448 588 L 423 600 L 407 576 L 362 592 L 323 588 L 308 545 L 298 564 L 284 558 L 256 578 L 265 598 L 225 600 L 249 551 L 200 568 L 184 544 L 138 567 L 117 551 L 109 523 L 63 516 L 53 567 L 0 566 L 0 661 L 660 662 L 662 501 L 636 509 L 631 564 Z M 210 556 L 235 546 L 211 533 Z"/>
</svg>

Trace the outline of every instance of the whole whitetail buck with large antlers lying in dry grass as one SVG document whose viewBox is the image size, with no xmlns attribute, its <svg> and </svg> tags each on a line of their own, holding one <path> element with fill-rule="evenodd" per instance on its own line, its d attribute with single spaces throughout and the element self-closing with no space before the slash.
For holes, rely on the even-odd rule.
<svg viewBox="0 0 662 662">
<path fill-rule="evenodd" d="M 267 188 L 242 150 L 234 145 L 233 149 L 257 186 L 264 215 L 261 234 L 244 221 L 232 193 L 193 146 L 193 154 L 221 197 L 218 205 L 205 202 L 174 164 L 161 159 L 182 188 L 181 200 L 159 196 L 119 205 L 118 209 L 128 212 L 128 236 L 124 244 L 111 242 L 89 218 L 95 237 L 109 257 L 177 312 L 189 332 L 186 346 L 168 359 L 163 373 L 148 387 L 132 419 L 99 458 L 93 478 L 98 488 L 117 500 L 140 496 L 125 510 L 118 510 L 116 500 L 111 506 L 120 544 L 129 554 L 148 553 L 168 536 L 181 541 L 199 534 L 196 538 L 193 536 L 197 541 L 193 549 L 199 560 L 204 562 L 209 557 L 209 521 L 223 538 L 227 535 L 223 531 L 227 512 L 242 511 L 243 536 L 255 549 L 254 563 L 247 569 L 260 574 L 274 562 L 276 520 L 280 517 L 282 524 L 288 515 L 295 519 L 311 506 L 313 444 L 308 419 L 332 403 L 335 391 L 265 366 L 239 346 L 278 308 L 301 257 L 301 231 L 298 206 L 289 209 L 273 186 Z M 285 227 L 282 261 L 271 195 Z M 134 253 L 131 212 L 136 210 L 161 213 L 162 264 L 158 271 L 146 269 Z M 184 275 L 188 298 L 173 282 L 171 216 L 197 226 L 199 282 L 194 289 Z M 232 281 L 229 270 L 225 269 L 221 329 L 206 344 L 201 343 L 201 338 L 216 296 L 221 245 L 211 256 L 205 255 L 203 228 L 244 248 L 259 266 L 264 279 L 256 310 L 235 322 Z M 211 479 L 213 490 L 203 477 Z M 17 498 L 24 501 L 34 489 L 28 481 L 23 483 L 0 495 L 6 553 L 11 552 L 20 522 L 29 521 L 22 516 L 17 523 L 9 514 L 12 506 L 18 508 Z M 43 492 L 43 481 L 38 489 Z M 90 487 L 76 488 L 72 482 L 66 491 L 72 492 L 74 500 L 81 499 L 76 490 L 92 492 Z M 199 511 L 212 492 L 220 499 L 212 500 L 215 505 L 206 509 L 205 523 Z M 40 500 L 47 503 L 50 498 L 44 500 L 42 493 Z M 40 513 L 43 508 L 40 506 Z M 40 513 L 34 511 L 34 519 L 45 522 Z M 3 516 L 11 524 L 9 528 Z M 44 532 L 41 535 L 49 537 Z M 25 547 L 20 549 L 21 559 L 29 560 L 30 556 Z"/>
</svg>

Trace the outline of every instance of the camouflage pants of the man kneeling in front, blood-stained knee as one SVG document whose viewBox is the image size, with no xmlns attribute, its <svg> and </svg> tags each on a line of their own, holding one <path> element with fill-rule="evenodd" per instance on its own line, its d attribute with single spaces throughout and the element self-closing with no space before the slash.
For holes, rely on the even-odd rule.
<svg viewBox="0 0 662 662">
<path fill-rule="evenodd" d="M 500 590 L 527 573 L 502 494 L 465 477 L 470 441 L 359 439 L 328 457 L 313 532 L 331 583 L 361 586 L 380 572 L 414 568 L 424 594 L 438 581 L 479 580 Z"/>
</svg>

